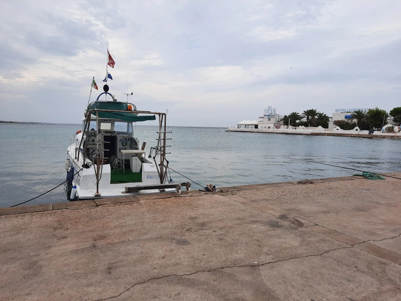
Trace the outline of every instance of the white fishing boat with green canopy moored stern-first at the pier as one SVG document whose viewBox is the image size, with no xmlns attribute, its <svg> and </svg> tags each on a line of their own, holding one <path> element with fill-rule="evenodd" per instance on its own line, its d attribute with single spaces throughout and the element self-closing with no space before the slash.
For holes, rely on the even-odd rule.
<svg viewBox="0 0 401 301">
<path fill-rule="evenodd" d="M 108 73 L 106 79 L 107 76 Z M 82 129 L 74 134 L 74 142 L 67 149 L 67 179 L 73 187 L 71 199 L 114 198 L 174 190 L 180 193 L 181 186 L 189 191 L 189 182 L 176 184 L 167 177 L 166 154 L 170 153 L 166 153 L 166 148 L 170 145 L 166 145 L 166 140 L 171 139 L 167 138 L 171 133 L 166 131 L 167 113 L 137 110 L 128 99 L 127 102 L 116 101 L 109 93 L 107 82 L 103 90 L 96 101 L 88 101 Z M 156 120 L 156 116 L 156 145 L 146 154 L 146 143 L 140 144 L 135 137 L 133 122 Z"/>
</svg>

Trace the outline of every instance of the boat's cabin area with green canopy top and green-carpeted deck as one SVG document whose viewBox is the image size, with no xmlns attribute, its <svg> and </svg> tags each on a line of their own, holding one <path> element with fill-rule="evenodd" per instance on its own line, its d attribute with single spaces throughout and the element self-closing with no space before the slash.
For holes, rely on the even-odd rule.
<svg viewBox="0 0 401 301">
<path fill-rule="evenodd" d="M 80 151 L 86 159 L 96 165 L 98 162 L 110 165 L 110 184 L 141 182 L 142 165 L 154 164 L 140 148 L 132 124 L 155 120 L 155 115 L 138 116 L 128 112 L 135 109 L 135 105 L 130 103 L 93 102 L 83 119 L 83 135 L 77 135 L 77 145 L 81 145 Z M 91 113 L 90 118 L 88 112 Z"/>
</svg>

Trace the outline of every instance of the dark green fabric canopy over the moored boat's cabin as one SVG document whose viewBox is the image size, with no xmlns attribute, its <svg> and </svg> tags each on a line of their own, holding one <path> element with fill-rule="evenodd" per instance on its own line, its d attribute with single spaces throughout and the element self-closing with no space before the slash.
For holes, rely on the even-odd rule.
<svg viewBox="0 0 401 301">
<path fill-rule="evenodd" d="M 95 101 L 92 102 L 88 106 L 88 111 L 93 109 L 101 109 L 101 110 L 119 110 L 119 111 L 127 111 L 127 112 L 96 112 L 93 111 L 92 114 L 96 116 L 96 113 L 100 118 L 108 118 L 108 119 L 121 119 L 124 121 L 146 121 L 146 120 L 156 120 L 155 115 L 134 115 L 133 113 L 129 113 L 128 110 L 129 103 L 119 102 L 119 101 Z"/>
</svg>

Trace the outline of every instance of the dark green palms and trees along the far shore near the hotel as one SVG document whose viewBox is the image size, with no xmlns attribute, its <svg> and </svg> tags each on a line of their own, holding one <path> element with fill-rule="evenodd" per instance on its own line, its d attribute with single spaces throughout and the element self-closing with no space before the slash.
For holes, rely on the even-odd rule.
<svg viewBox="0 0 401 301">
<path fill-rule="evenodd" d="M 393 117 L 393 122 L 399 125 L 401 123 L 401 107 L 395 107 L 390 110 L 390 115 Z M 333 123 L 335 126 L 339 126 L 341 129 L 353 129 L 358 126 L 360 129 L 378 129 L 380 130 L 383 121 L 387 123 L 388 113 L 375 107 L 374 109 L 368 109 L 367 111 L 356 110 L 351 113 L 349 120 L 335 120 Z M 303 120 L 306 118 L 306 120 Z M 284 125 L 290 124 L 291 126 L 321 126 L 328 128 L 329 116 L 319 112 L 317 109 L 309 109 L 303 111 L 303 113 L 292 112 L 289 115 L 284 115 L 280 121 L 283 121 Z"/>
</svg>

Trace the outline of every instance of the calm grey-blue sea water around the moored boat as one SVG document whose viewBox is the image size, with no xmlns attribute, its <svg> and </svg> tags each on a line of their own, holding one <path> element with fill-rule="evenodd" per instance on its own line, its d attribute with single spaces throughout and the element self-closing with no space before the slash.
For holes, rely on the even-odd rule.
<svg viewBox="0 0 401 301">
<path fill-rule="evenodd" d="M 50 190 L 66 179 L 64 161 L 79 124 L 0 124 L 0 207 Z M 233 186 L 349 176 L 357 172 L 308 159 L 374 172 L 401 171 L 401 141 L 328 136 L 225 132 L 225 128 L 169 127 L 170 167 L 205 185 Z M 134 127 L 146 152 L 154 126 Z M 185 181 L 171 172 L 174 182 Z M 200 188 L 193 184 L 193 189 Z M 64 186 L 26 205 L 67 202 Z"/>
</svg>

